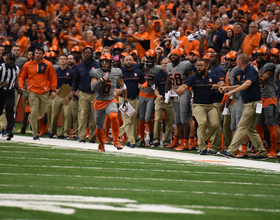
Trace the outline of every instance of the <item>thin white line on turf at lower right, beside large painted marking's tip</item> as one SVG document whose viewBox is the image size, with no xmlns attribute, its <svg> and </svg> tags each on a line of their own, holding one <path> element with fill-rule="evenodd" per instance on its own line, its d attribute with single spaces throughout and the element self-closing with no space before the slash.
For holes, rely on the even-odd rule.
<svg viewBox="0 0 280 220">
<path fill-rule="evenodd" d="M 194 209 L 219 209 L 219 210 L 236 210 L 236 211 L 255 211 L 255 212 L 280 212 L 280 209 L 262 209 L 262 208 L 239 208 L 226 206 L 203 206 L 203 205 L 182 205 L 183 208 Z"/>
</svg>

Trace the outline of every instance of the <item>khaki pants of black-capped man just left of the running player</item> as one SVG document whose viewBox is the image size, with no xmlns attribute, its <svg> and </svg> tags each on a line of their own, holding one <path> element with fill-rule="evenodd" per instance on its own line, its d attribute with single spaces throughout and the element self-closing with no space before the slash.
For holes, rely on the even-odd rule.
<svg viewBox="0 0 280 220">
<path fill-rule="evenodd" d="M 79 92 L 79 139 L 86 140 L 87 122 L 89 118 L 89 140 L 96 140 L 94 108 L 94 93 Z"/>
</svg>

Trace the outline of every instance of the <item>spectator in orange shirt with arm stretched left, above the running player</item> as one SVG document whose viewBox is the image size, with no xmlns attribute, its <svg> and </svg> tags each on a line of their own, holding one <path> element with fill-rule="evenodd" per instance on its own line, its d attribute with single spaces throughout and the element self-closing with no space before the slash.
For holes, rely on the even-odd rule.
<svg viewBox="0 0 280 220">
<path fill-rule="evenodd" d="M 141 46 L 141 44 L 138 41 L 145 41 L 149 40 L 149 34 L 145 29 L 144 24 L 140 24 L 138 28 L 138 33 L 133 35 L 133 31 L 129 28 L 127 36 L 132 38 L 132 40 L 136 41 L 136 50 L 138 51 L 140 58 L 142 58 L 145 55 L 146 50 Z"/>
</svg>

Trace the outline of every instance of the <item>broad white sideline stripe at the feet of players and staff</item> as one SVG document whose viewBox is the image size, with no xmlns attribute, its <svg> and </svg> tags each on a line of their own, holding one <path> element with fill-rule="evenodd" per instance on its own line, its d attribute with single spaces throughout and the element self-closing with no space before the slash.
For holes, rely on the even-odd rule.
<svg viewBox="0 0 280 220">
<path fill-rule="evenodd" d="M 26 136 L 17 136 L 12 139 L 12 142 L 25 142 L 37 145 L 52 145 L 57 147 L 66 147 L 73 149 L 85 149 L 85 150 L 97 150 L 98 144 L 81 144 L 78 141 L 67 141 L 67 140 L 58 140 L 58 139 L 48 139 L 48 138 L 40 138 L 39 141 L 32 140 L 32 137 Z M 152 157 L 160 157 L 160 158 L 169 158 L 183 161 L 197 161 L 203 163 L 210 164 L 222 164 L 226 166 L 239 166 L 239 167 L 247 167 L 247 168 L 258 168 L 264 170 L 272 170 L 280 173 L 280 164 L 264 162 L 264 161 L 253 161 L 253 160 L 244 160 L 244 159 L 227 159 L 218 156 L 200 156 L 195 154 L 188 154 L 182 152 L 173 152 L 173 151 L 160 151 L 153 149 L 131 149 L 128 147 L 124 147 L 123 150 L 118 151 L 112 145 L 106 145 L 106 151 L 110 152 L 121 152 L 121 153 L 130 153 L 142 156 L 152 156 Z M 106 154 L 105 154 L 106 155 Z"/>
</svg>

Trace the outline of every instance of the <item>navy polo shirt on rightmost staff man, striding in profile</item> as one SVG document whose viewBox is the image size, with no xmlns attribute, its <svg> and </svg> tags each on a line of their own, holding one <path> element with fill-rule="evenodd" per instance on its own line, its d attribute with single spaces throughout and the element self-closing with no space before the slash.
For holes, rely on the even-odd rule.
<svg viewBox="0 0 280 220">
<path fill-rule="evenodd" d="M 239 84 L 242 85 L 246 80 L 251 80 L 252 84 L 249 88 L 241 91 L 241 98 L 246 104 L 248 102 L 261 100 L 261 89 L 259 84 L 259 74 L 250 64 L 246 66 L 240 75 Z"/>
</svg>

